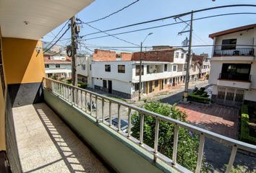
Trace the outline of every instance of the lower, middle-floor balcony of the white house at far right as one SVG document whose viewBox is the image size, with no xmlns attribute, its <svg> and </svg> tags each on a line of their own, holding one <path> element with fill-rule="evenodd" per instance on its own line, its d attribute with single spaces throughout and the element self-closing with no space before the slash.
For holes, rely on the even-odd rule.
<svg viewBox="0 0 256 173">
<path fill-rule="evenodd" d="M 251 75 L 249 74 L 220 74 L 218 78 L 219 86 L 229 86 L 242 89 L 250 89 Z"/>
</svg>

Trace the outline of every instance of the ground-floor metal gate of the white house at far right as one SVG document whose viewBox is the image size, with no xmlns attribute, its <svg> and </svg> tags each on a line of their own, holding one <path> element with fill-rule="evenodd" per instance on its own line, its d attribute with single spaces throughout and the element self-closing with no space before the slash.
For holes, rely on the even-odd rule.
<svg viewBox="0 0 256 173">
<path fill-rule="evenodd" d="M 244 89 L 218 87 L 217 102 L 223 105 L 240 107 L 244 100 Z"/>
</svg>

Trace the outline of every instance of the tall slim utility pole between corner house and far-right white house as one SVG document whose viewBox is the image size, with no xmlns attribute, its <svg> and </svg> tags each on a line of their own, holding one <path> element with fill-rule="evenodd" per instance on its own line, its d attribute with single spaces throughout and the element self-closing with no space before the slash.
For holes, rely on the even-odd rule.
<svg viewBox="0 0 256 173">
<path fill-rule="evenodd" d="M 189 30 L 189 49 L 187 53 L 187 72 L 186 72 L 186 80 L 185 80 L 185 90 L 184 90 L 184 96 L 183 96 L 183 102 L 187 102 L 188 97 L 188 90 L 189 90 L 189 66 L 190 66 L 190 60 L 192 56 L 191 51 L 191 45 L 192 45 L 192 24 L 193 24 L 193 11 L 191 12 L 191 19 L 190 19 L 190 30 Z"/>
</svg>

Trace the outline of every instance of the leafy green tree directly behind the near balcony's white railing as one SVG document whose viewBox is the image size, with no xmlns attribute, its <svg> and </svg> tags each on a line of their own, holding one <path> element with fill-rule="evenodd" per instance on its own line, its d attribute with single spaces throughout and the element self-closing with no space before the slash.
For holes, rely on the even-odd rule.
<svg viewBox="0 0 256 173">
<path fill-rule="evenodd" d="M 176 120 L 186 122 L 187 115 L 185 112 L 175 108 L 175 105 L 166 105 L 161 102 L 145 103 L 144 108 L 151 112 L 171 117 Z M 132 136 L 140 138 L 140 113 L 132 115 Z M 155 138 L 155 118 L 145 116 L 143 142 L 148 146 L 154 146 Z M 158 151 L 165 156 L 171 158 L 174 146 L 174 125 L 164 121 L 159 124 Z M 185 128 L 179 128 L 179 141 L 177 162 L 183 167 L 191 171 L 195 171 L 197 166 L 197 151 L 199 147 L 199 137 Z M 208 172 L 210 164 L 205 161 L 205 156 L 202 160 L 202 172 Z"/>
</svg>

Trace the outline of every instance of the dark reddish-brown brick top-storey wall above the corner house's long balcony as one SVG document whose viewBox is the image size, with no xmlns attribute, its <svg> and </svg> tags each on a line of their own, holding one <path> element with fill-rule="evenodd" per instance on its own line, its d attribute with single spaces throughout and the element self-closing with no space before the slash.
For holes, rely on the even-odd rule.
<svg viewBox="0 0 256 173">
<path fill-rule="evenodd" d="M 140 52 L 133 53 L 132 61 L 140 61 Z M 142 61 L 174 62 L 174 50 L 142 52 Z"/>
</svg>

